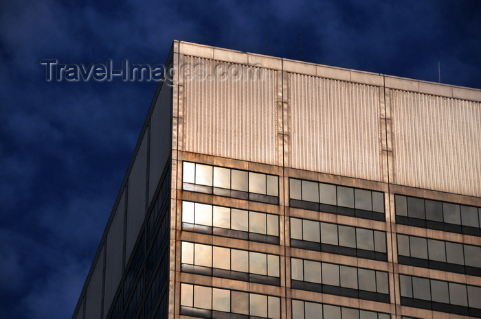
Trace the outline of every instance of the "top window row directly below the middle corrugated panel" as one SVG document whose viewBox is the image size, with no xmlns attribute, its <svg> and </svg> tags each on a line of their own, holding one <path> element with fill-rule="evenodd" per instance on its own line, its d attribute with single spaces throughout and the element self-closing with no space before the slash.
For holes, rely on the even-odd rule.
<svg viewBox="0 0 481 319">
<path fill-rule="evenodd" d="M 384 193 L 289 178 L 293 207 L 385 220 Z"/>
</svg>

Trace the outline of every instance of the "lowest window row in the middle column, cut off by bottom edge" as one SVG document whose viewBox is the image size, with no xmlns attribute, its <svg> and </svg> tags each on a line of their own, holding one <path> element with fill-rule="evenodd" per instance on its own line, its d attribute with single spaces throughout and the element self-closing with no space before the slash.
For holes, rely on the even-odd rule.
<svg viewBox="0 0 481 319">
<path fill-rule="evenodd" d="M 390 319 L 390 314 L 367 311 L 348 307 L 311 303 L 292 300 L 292 318 L 294 319 Z"/>
</svg>

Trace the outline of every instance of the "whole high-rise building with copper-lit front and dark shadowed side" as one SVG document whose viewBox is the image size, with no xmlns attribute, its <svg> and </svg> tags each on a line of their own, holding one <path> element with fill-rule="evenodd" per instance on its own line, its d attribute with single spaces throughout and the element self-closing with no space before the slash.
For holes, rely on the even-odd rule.
<svg viewBox="0 0 481 319">
<path fill-rule="evenodd" d="M 73 319 L 481 318 L 480 90 L 166 65 Z"/>
</svg>

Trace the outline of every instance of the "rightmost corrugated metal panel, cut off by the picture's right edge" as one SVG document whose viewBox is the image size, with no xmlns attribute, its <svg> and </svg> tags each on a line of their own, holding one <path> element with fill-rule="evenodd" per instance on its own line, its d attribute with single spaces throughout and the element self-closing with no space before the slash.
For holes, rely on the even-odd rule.
<svg viewBox="0 0 481 319">
<path fill-rule="evenodd" d="M 392 90 L 394 183 L 481 196 L 479 102 Z"/>
</svg>

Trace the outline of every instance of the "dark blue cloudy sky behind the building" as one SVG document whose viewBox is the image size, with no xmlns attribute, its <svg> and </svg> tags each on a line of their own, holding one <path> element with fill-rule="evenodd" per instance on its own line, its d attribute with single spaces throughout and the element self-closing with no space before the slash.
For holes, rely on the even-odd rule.
<svg viewBox="0 0 481 319">
<path fill-rule="evenodd" d="M 46 82 L 41 58 L 164 63 L 173 39 L 481 88 L 481 3 L 0 2 L 0 318 L 70 318 L 155 82 Z M 267 49 L 266 49 L 267 44 Z"/>
</svg>

